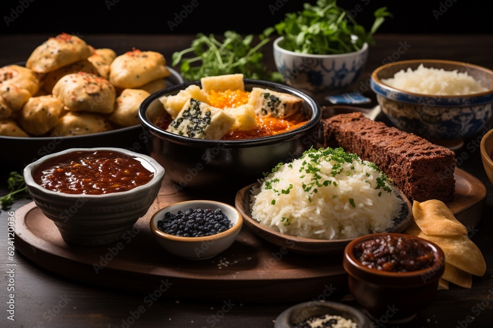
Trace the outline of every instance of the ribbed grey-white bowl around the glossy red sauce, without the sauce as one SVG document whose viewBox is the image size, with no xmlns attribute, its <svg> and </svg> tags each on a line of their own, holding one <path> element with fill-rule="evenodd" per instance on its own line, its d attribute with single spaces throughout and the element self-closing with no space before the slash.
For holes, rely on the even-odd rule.
<svg viewBox="0 0 493 328">
<path fill-rule="evenodd" d="M 46 160 L 72 151 L 110 150 L 141 161 L 154 177 L 131 190 L 103 195 L 67 194 L 48 190 L 33 179 Z M 36 206 L 57 226 L 62 238 L 76 245 L 104 245 L 122 239 L 154 202 L 164 178 L 163 167 L 149 156 L 120 148 L 72 148 L 44 156 L 24 169 L 24 179 Z"/>
</svg>

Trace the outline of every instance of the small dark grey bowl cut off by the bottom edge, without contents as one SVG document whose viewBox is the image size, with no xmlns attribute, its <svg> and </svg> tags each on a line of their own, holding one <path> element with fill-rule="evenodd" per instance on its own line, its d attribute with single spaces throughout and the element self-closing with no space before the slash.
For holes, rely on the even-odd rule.
<svg viewBox="0 0 493 328">
<path fill-rule="evenodd" d="M 303 321 L 323 315 L 336 315 L 351 320 L 358 328 L 370 328 L 370 321 L 352 306 L 336 302 L 309 301 L 291 306 L 276 319 L 274 328 L 298 327 Z"/>
</svg>

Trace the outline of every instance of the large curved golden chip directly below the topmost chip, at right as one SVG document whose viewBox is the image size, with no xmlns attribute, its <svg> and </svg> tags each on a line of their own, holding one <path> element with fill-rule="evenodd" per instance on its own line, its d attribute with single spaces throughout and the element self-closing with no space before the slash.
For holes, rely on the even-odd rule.
<svg viewBox="0 0 493 328">
<path fill-rule="evenodd" d="M 478 246 L 469 237 L 428 236 L 423 232 L 417 235 L 437 244 L 445 254 L 445 262 L 477 276 L 486 273 L 486 262 Z"/>
</svg>

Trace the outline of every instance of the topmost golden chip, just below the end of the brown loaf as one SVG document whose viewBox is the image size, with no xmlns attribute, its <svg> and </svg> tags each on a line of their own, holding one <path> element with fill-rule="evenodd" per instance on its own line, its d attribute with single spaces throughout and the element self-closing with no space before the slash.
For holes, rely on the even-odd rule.
<svg viewBox="0 0 493 328">
<path fill-rule="evenodd" d="M 435 199 L 422 203 L 414 201 L 413 215 L 416 224 L 428 236 L 467 236 L 467 228 L 441 201 Z"/>
</svg>

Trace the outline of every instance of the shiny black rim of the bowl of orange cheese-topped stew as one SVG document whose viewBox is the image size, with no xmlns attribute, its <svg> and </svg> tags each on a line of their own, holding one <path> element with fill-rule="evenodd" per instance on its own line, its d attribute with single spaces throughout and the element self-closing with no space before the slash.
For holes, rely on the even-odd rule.
<svg viewBox="0 0 493 328">
<path fill-rule="evenodd" d="M 165 131 L 156 125 L 154 125 L 146 115 L 147 109 L 149 105 L 162 97 L 165 94 L 173 93 L 175 91 L 179 91 L 187 88 L 190 85 L 198 85 L 201 86 L 200 81 L 190 81 L 183 84 L 179 84 L 170 88 L 162 89 L 157 92 L 152 93 L 150 96 L 145 98 L 141 105 L 139 106 L 139 119 L 141 120 L 141 124 L 144 128 L 149 129 L 152 134 L 155 134 L 160 139 L 173 140 L 175 142 L 181 142 L 188 146 L 195 147 L 217 147 L 218 145 L 222 145 L 224 147 L 255 147 L 260 145 L 271 145 L 277 144 L 279 142 L 286 142 L 292 139 L 296 139 L 300 134 L 305 133 L 306 131 L 311 130 L 315 127 L 320 119 L 321 119 L 321 109 L 320 105 L 307 93 L 295 89 L 293 87 L 289 87 L 286 85 L 282 85 L 275 82 L 264 81 L 264 80 L 252 80 L 252 79 L 243 79 L 246 85 L 259 85 L 263 87 L 271 87 L 276 89 L 281 89 L 283 91 L 289 91 L 290 94 L 296 95 L 297 97 L 303 99 L 308 103 L 308 105 L 312 108 L 312 116 L 308 120 L 308 122 L 296 129 L 280 133 L 274 136 L 260 137 L 260 138 L 251 138 L 251 139 L 242 139 L 242 140 L 209 140 L 209 139 L 197 139 L 191 137 L 180 136 L 176 133 L 171 133 Z"/>
</svg>

